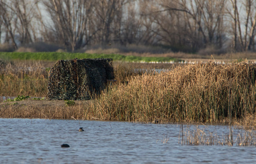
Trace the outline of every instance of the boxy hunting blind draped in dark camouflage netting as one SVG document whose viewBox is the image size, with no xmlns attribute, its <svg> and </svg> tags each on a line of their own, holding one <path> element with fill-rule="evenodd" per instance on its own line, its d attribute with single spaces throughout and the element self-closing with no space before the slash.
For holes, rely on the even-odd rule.
<svg viewBox="0 0 256 164">
<path fill-rule="evenodd" d="M 89 99 L 114 79 L 113 59 L 70 59 L 50 68 L 47 99 Z"/>
</svg>

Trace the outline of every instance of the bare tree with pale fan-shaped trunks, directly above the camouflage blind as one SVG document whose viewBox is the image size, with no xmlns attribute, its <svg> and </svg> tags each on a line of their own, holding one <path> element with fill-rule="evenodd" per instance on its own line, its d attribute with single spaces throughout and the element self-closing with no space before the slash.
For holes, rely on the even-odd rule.
<svg viewBox="0 0 256 164">
<path fill-rule="evenodd" d="M 44 0 L 58 41 L 72 51 L 83 43 L 93 4 L 93 0 Z"/>
</svg>

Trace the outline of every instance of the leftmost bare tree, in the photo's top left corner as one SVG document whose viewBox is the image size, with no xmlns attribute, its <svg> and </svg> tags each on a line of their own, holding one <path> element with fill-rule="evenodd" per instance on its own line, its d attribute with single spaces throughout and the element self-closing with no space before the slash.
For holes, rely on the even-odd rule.
<svg viewBox="0 0 256 164">
<path fill-rule="evenodd" d="M 12 44 L 17 49 L 17 40 L 21 44 L 28 44 L 33 42 L 31 34 L 35 36 L 35 27 L 32 19 L 35 14 L 35 4 L 38 0 L 10 0 L 0 1 L 1 20 L 4 23 L 6 34 L 6 41 L 8 37 L 12 40 Z M 36 37 L 34 37 L 35 39 Z"/>
</svg>

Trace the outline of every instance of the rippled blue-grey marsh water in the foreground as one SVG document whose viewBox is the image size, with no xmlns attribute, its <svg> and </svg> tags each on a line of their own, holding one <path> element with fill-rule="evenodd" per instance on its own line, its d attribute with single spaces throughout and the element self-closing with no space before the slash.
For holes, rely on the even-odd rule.
<svg viewBox="0 0 256 164">
<path fill-rule="evenodd" d="M 176 124 L 0 119 L 0 163 L 256 163 L 256 147 L 181 145 L 180 133 Z"/>
</svg>

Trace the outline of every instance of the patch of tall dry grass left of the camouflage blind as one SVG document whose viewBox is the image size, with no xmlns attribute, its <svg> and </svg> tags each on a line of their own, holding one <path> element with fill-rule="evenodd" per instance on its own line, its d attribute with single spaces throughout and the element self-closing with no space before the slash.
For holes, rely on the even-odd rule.
<svg viewBox="0 0 256 164">
<path fill-rule="evenodd" d="M 44 97 L 48 72 L 40 62 L 1 62 L 0 96 Z"/>
</svg>

